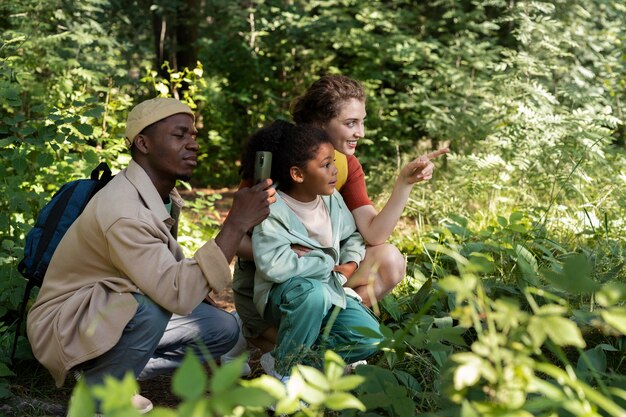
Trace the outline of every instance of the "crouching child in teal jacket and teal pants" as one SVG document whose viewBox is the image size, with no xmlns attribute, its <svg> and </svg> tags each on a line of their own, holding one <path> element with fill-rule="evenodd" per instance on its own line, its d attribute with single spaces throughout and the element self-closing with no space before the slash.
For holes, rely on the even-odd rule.
<svg viewBox="0 0 626 417">
<path fill-rule="evenodd" d="M 348 363 L 369 357 L 380 339 L 355 328 L 376 333 L 378 322 L 343 286 L 362 261 L 365 244 L 334 192 L 337 169 L 330 138 L 313 126 L 276 121 L 250 139 L 244 178 L 252 176 L 259 150 L 273 154 L 271 178 L 278 193 L 270 216 L 252 234 L 254 303 L 278 328 L 276 370 L 285 375 L 294 363 L 319 366 L 320 348 L 335 350 Z M 325 339 L 321 333 L 327 325 Z"/>
</svg>

